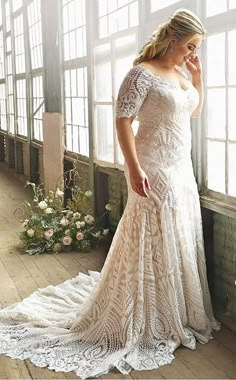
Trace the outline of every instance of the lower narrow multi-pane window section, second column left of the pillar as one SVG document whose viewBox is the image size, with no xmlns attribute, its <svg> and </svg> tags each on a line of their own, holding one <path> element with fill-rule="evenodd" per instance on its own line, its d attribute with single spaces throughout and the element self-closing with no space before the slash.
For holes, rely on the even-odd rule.
<svg viewBox="0 0 236 380">
<path fill-rule="evenodd" d="M 16 81 L 17 94 L 17 134 L 27 136 L 26 80 Z"/>
</svg>

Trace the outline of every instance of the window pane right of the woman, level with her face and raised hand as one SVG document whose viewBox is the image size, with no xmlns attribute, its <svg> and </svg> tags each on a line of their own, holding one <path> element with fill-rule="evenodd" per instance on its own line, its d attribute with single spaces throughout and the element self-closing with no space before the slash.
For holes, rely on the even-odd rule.
<svg viewBox="0 0 236 380">
<path fill-rule="evenodd" d="M 207 84 L 208 86 L 225 84 L 225 33 L 207 39 Z"/>
</svg>

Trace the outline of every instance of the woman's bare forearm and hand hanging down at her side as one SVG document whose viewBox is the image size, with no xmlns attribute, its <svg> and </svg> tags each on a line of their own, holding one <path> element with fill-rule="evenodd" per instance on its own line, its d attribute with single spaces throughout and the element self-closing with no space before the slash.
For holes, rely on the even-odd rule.
<svg viewBox="0 0 236 380">
<path fill-rule="evenodd" d="M 151 190 L 148 178 L 142 170 L 135 147 L 135 139 L 131 127 L 133 117 L 116 119 L 117 136 L 121 150 L 129 169 L 132 189 L 143 197 L 148 197 L 147 190 Z"/>
</svg>

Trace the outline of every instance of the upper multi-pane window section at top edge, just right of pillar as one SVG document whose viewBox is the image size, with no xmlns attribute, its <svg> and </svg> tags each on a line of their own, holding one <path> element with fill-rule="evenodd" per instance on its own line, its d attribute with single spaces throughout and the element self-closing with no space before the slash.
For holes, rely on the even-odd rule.
<svg viewBox="0 0 236 380">
<path fill-rule="evenodd" d="M 64 60 L 87 55 L 85 0 L 63 1 Z"/>
</svg>

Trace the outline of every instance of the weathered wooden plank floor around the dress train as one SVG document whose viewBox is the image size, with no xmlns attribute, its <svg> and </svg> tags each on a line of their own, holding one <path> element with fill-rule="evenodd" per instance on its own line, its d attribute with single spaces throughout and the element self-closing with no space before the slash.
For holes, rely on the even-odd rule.
<svg viewBox="0 0 236 380">
<path fill-rule="evenodd" d="M 23 199 L 30 199 L 24 185 L 9 176 L 0 165 L 0 302 L 5 307 L 30 295 L 37 288 L 59 284 L 78 272 L 100 270 L 105 250 L 57 255 L 28 256 L 17 249 L 20 223 L 14 210 Z M 226 328 L 215 333 L 208 344 L 196 351 L 180 347 L 170 365 L 152 371 L 132 371 L 122 376 L 118 371 L 102 379 L 235 379 L 236 335 Z M 55 373 L 37 368 L 30 361 L 0 356 L 0 379 L 78 379 L 74 373 Z"/>
</svg>

